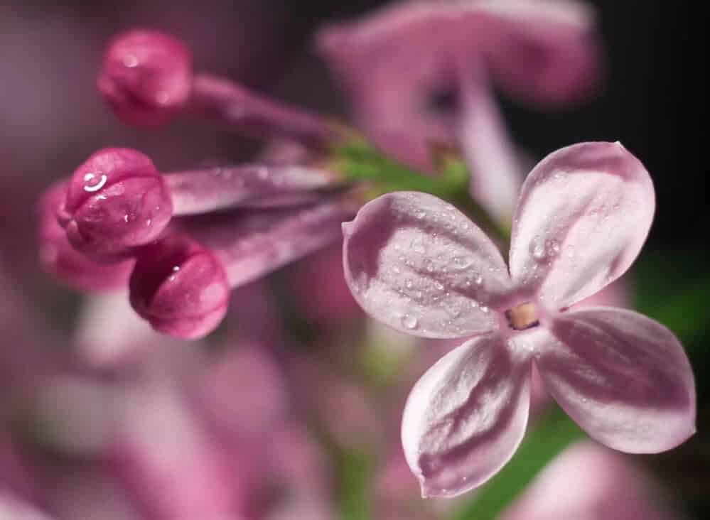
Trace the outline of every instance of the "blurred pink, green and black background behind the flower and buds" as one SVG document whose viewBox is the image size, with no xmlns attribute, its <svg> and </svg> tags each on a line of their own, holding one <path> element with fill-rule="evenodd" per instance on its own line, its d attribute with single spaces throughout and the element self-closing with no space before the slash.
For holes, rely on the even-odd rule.
<svg viewBox="0 0 710 520">
<path fill-rule="evenodd" d="M 518 502 L 507 499 L 504 514 L 571 518 L 545 516 L 544 507 L 536 509 L 542 516 L 525 511 L 555 494 L 569 492 L 574 502 L 579 489 L 570 482 L 596 468 L 589 472 L 597 487 L 580 484 L 597 494 L 576 500 L 588 512 L 579 518 L 701 519 L 710 506 L 710 387 L 704 377 L 710 368 L 709 222 L 707 166 L 701 162 L 706 16 L 684 1 L 589 3 L 598 10 L 606 59 L 601 92 L 554 111 L 499 93 L 502 112 L 515 141 L 536 158 L 578 141 L 619 140 L 650 171 L 658 210 L 627 277 L 627 305 L 665 323 L 684 342 L 696 374 L 698 433 L 676 450 L 648 457 L 576 446 L 567 462 L 547 465 L 557 476 L 541 474 L 549 482 L 536 481 L 539 489 L 530 488 Z M 156 340 L 159 345 L 146 348 L 147 359 L 119 368 L 77 362 L 81 352 L 94 352 L 86 342 L 102 338 L 109 345 L 117 332 L 105 323 L 87 332 L 85 300 L 43 273 L 38 262 L 38 196 L 97 148 L 138 148 L 163 171 L 236 163 L 259 150 L 254 141 L 198 120 L 180 119 L 157 131 L 119 122 L 95 89 L 105 45 L 117 32 L 140 26 L 173 33 L 193 50 L 198 70 L 347 117 L 347 100 L 314 52 L 313 32 L 380 4 L 0 1 L 0 333 L 6 338 L 0 354 L 0 501 L 57 519 L 483 517 L 467 512 L 476 511 L 468 507 L 473 494 L 454 501 L 418 498 L 397 453 L 397 428 L 406 392 L 442 350 L 417 354 L 411 340 L 366 322 L 343 293 L 337 247 L 237 291 L 237 300 L 263 300 L 266 309 L 232 305 L 238 334 L 222 331 L 198 346 Z M 314 293 L 316 279 L 333 283 Z M 112 302 L 99 302 L 104 304 Z M 113 312 L 122 310 L 108 315 Z M 264 330 L 274 327 L 257 329 L 269 313 L 283 330 L 264 340 Z M 264 341 L 279 346 L 259 345 Z M 112 406 L 129 426 L 114 425 L 107 412 Z M 188 418 L 198 426 L 185 426 Z M 132 440 L 106 441 L 102 435 L 114 428 Z M 175 440 L 180 435 L 189 442 Z M 151 442 L 171 439 L 176 448 L 170 454 L 155 461 L 146 455 L 157 450 Z M 184 446 L 199 447 L 188 455 Z M 606 489 L 599 482 L 616 485 Z M 200 497 L 213 510 L 195 505 Z M 220 510 L 220 503 L 227 505 Z M 614 504 L 613 511 L 601 504 Z M 0 519 L 25 518 L 5 510 L 20 511 L 0 505 Z M 237 512 L 227 516 L 227 510 Z"/>
</svg>

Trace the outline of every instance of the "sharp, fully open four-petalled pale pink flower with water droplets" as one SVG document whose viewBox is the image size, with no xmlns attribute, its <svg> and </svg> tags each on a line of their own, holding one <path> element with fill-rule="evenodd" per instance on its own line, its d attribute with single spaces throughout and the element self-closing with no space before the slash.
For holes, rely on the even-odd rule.
<svg viewBox="0 0 710 520">
<path fill-rule="evenodd" d="M 592 438 L 656 453 L 694 433 L 694 379 L 672 332 L 630 310 L 568 310 L 633 263 L 655 208 L 652 181 L 619 143 L 581 143 L 522 186 L 510 263 L 453 206 L 390 193 L 344 224 L 345 276 L 368 313 L 421 337 L 471 338 L 424 374 L 402 421 L 425 496 L 453 496 L 512 457 L 530 371 Z"/>
</svg>

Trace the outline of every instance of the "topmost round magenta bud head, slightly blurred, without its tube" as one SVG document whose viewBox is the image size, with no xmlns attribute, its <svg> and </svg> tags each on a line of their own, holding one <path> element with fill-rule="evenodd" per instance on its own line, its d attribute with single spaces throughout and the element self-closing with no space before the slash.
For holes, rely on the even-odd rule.
<svg viewBox="0 0 710 520">
<path fill-rule="evenodd" d="M 157 126 L 185 107 L 192 80 L 190 51 L 180 40 L 136 30 L 113 40 L 97 87 L 126 123 Z"/>
</svg>

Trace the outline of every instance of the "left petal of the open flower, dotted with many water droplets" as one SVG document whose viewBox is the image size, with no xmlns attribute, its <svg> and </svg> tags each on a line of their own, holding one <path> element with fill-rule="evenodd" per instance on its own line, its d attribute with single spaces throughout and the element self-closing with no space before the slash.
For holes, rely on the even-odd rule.
<svg viewBox="0 0 710 520">
<path fill-rule="evenodd" d="M 358 303 L 397 330 L 466 337 L 497 328 L 489 298 L 509 285 L 493 242 L 433 195 L 397 192 L 343 224 L 345 280 Z"/>
</svg>

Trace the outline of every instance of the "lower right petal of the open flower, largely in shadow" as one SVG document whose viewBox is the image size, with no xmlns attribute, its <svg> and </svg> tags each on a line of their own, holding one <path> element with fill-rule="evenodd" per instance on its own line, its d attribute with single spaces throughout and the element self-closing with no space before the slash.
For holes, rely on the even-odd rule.
<svg viewBox="0 0 710 520">
<path fill-rule="evenodd" d="M 536 342 L 548 391 L 599 442 L 658 453 L 695 432 L 693 372 L 660 323 L 631 310 L 585 308 L 556 317 L 552 335 Z"/>
</svg>

